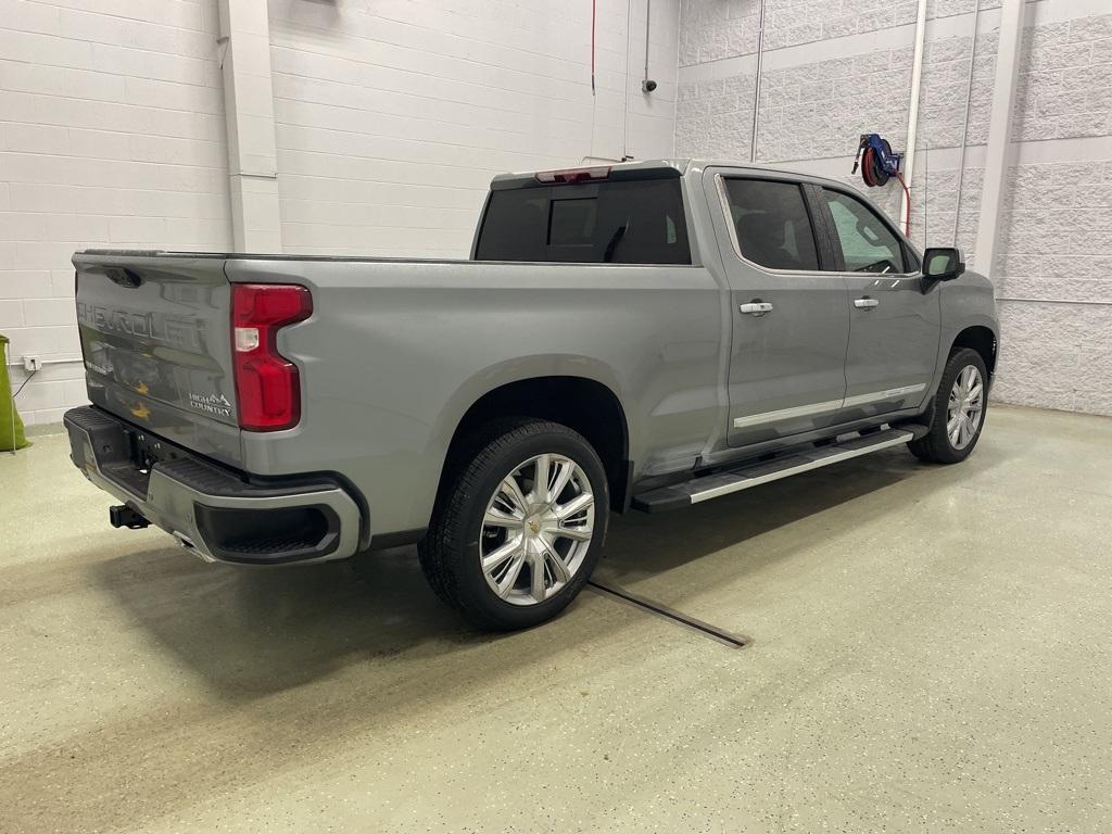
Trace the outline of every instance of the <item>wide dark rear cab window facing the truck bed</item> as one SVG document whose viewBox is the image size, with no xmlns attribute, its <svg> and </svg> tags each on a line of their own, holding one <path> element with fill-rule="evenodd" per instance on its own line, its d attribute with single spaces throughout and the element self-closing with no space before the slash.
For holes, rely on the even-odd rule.
<svg viewBox="0 0 1112 834">
<path fill-rule="evenodd" d="M 679 180 L 492 191 L 475 259 L 691 264 Z"/>
</svg>

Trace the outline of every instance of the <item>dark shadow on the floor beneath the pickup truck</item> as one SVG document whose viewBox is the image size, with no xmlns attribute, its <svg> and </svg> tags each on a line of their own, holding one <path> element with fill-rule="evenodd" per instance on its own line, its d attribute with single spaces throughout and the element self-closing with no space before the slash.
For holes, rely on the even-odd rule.
<svg viewBox="0 0 1112 834">
<path fill-rule="evenodd" d="M 612 516 L 597 576 L 628 585 L 798 524 L 805 529 L 792 538 L 795 552 L 838 527 L 866 523 L 870 514 L 898 512 L 887 502 L 864 500 L 852 513 L 832 514 L 828 525 L 805 524 L 825 510 L 901 483 L 903 492 L 895 500 L 910 507 L 921 494 L 951 488 L 955 478 L 936 467 L 922 468 L 901 449 L 686 510 Z M 731 556 L 731 577 L 743 579 L 783 556 L 783 549 L 743 549 Z M 414 547 L 361 555 L 354 565 L 284 568 L 206 565 L 178 549 L 160 548 L 109 558 L 89 569 L 139 629 L 199 675 L 218 697 L 232 702 L 264 697 L 397 655 L 425 659 L 410 672 L 435 676 L 437 664 L 429 659 L 470 651 L 475 663 L 481 663 L 487 648 L 524 636 L 471 631 L 425 584 Z M 712 582 L 709 576 L 707 582 Z M 569 639 L 598 638 L 597 628 L 576 624 L 590 607 L 583 599 L 543 627 L 562 632 L 553 641 L 559 647 L 566 648 Z M 669 598 L 667 604 L 682 609 L 683 598 Z M 738 599 L 738 606 L 744 604 Z M 508 652 L 508 646 L 503 648 Z M 520 662 L 540 659 L 543 654 Z"/>
</svg>

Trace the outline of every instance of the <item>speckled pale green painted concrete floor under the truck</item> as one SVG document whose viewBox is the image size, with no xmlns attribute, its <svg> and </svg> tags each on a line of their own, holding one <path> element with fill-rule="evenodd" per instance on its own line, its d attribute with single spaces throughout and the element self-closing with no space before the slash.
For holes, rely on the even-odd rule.
<svg viewBox="0 0 1112 834">
<path fill-rule="evenodd" d="M 209 566 L 0 455 L 0 831 L 1112 830 L 1112 419 L 996 407 L 613 527 L 597 593 L 468 632 L 411 549 Z"/>
</svg>

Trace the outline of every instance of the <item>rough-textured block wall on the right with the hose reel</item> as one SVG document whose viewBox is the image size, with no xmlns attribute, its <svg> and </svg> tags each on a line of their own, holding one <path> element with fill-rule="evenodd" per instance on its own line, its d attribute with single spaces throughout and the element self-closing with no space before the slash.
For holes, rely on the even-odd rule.
<svg viewBox="0 0 1112 834">
<path fill-rule="evenodd" d="M 677 153 L 748 159 L 757 7 L 757 0 L 683 0 Z M 931 7 L 911 183 L 912 237 L 920 244 L 953 239 L 972 7 L 972 0 Z M 981 1 L 957 222 L 956 242 L 974 266 L 995 7 Z M 1013 122 L 1017 165 L 1001 219 L 996 292 L 1044 302 L 1000 304 L 996 396 L 1007 401 L 1112 414 L 1108 11 L 1099 0 L 1042 0 L 1027 10 Z M 757 159 L 863 188 L 848 176 L 857 136 L 876 131 L 896 149 L 905 143 L 914 18 L 915 2 L 906 0 L 766 0 Z M 897 215 L 898 185 L 868 196 Z"/>
</svg>

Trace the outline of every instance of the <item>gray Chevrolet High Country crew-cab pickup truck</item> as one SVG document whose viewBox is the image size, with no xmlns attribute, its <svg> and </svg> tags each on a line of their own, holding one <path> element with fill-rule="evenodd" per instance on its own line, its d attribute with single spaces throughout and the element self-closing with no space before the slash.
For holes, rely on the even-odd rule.
<svg viewBox="0 0 1112 834">
<path fill-rule="evenodd" d="M 445 602 L 519 628 L 583 588 L 610 512 L 897 444 L 952 464 L 984 424 L 991 285 L 836 181 L 499 176 L 471 256 L 77 254 L 73 463 L 115 526 L 250 565 L 416 543 Z"/>
</svg>

